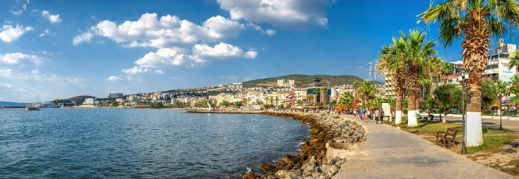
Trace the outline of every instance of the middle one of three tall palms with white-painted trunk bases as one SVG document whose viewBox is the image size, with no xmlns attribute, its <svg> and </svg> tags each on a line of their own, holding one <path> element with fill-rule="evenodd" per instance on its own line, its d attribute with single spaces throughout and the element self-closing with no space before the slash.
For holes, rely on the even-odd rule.
<svg viewBox="0 0 519 179">
<path fill-rule="evenodd" d="M 416 114 L 419 113 L 419 96 L 420 96 L 420 66 L 423 67 L 429 58 L 433 58 L 436 52 L 433 47 L 436 45 L 433 41 L 426 40 L 426 33 L 418 30 L 409 30 L 409 34 L 400 32 L 400 39 L 395 44 L 395 48 L 404 59 L 407 66 L 406 86 L 408 93 L 408 111 L 407 126 L 414 127 L 418 125 Z"/>
</svg>

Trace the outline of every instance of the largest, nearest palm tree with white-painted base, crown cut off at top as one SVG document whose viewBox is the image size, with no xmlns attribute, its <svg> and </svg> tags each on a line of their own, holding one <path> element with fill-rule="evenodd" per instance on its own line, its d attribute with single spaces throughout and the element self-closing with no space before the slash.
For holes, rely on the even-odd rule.
<svg viewBox="0 0 519 179">
<path fill-rule="evenodd" d="M 418 22 L 440 22 L 439 39 L 444 47 L 462 38 L 464 68 L 468 79 L 466 144 L 483 144 L 481 120 L 481 74 L 486 68 L 490 36 L 502 36 L 507 25 L 517 24 L 519 5 L 514 0 L 446 0 L 418 15 Z"/>
</svg>

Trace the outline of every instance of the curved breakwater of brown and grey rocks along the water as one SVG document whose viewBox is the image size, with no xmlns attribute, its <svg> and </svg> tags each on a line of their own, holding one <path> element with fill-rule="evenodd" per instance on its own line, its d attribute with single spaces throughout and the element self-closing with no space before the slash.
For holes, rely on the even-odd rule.
<svg viewBox="0 0 519 179">
<path fill-rule="evenodd" d="M 257 113 L 290 117 L 310 126 L 310 136 L 295 155 L 260 166 L 263 175 L 249 172 L 243 178 L 331 178 L 366 139 L 362 125 L 324 114 L 282 111 L 188 111 L 191 113 Z"/>
</svg>

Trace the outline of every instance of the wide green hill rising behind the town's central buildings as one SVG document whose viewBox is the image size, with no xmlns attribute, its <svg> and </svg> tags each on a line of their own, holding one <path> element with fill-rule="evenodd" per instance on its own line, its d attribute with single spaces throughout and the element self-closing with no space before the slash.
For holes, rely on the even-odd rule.
<svg viewBox="0 0 519 179">
<path fill-rule="evenodd" d="M 331 86 L 339 86 L 345 84 L 353 84 L 354 81 L 362 82 L 363 79 L 355 75 L 305 75 L 305 74 L 290 74 L 284 76 L 278 76 L 274 78 L 256 79 L 251 81 L 243 82 L 243 87 L 256 87 L 256 86 L 277 86 L 278 80 L 294 80 L 295 87 L 306 87 L 308 84 L 313 83 L 313 79 L 321 78 L 322 82 L 328 83 Z M 372 81 L 374 84 L 382 84 L 378 81 Z"/>
</svg>

